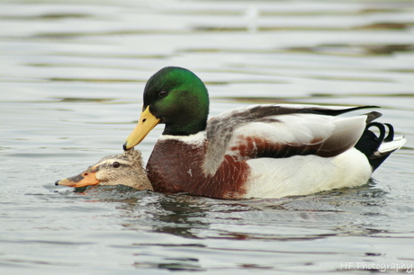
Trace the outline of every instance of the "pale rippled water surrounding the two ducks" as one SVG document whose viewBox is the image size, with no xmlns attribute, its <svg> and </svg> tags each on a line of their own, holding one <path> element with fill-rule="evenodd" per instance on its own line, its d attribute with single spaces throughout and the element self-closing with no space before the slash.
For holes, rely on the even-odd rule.
<svg viewBox="0 0 414 275">
<path fill-rule="evenodd" d="M 2 274 L 412 269 L 412 1 L 2 1 L 0 58 Z M 369 184 L 300 198 L 54 186 L 121 152 L 145 82 L 172 65 L 208 85 L 211 115 L 378 105 L 408 143 Z"/>
</svg>

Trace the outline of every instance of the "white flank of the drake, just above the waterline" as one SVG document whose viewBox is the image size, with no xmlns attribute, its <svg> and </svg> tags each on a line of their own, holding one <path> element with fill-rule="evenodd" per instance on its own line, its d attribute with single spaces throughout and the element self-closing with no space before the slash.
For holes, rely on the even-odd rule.
<svg viewBox="0 0 414 275">
<path fill-rule="evenodd" d="M 335 157 L 296 155 L 248 160 L 246 198 L 302 196 L 365 184 L 372 173 L 366 156 L 352 148 Z"/>
</svg>

